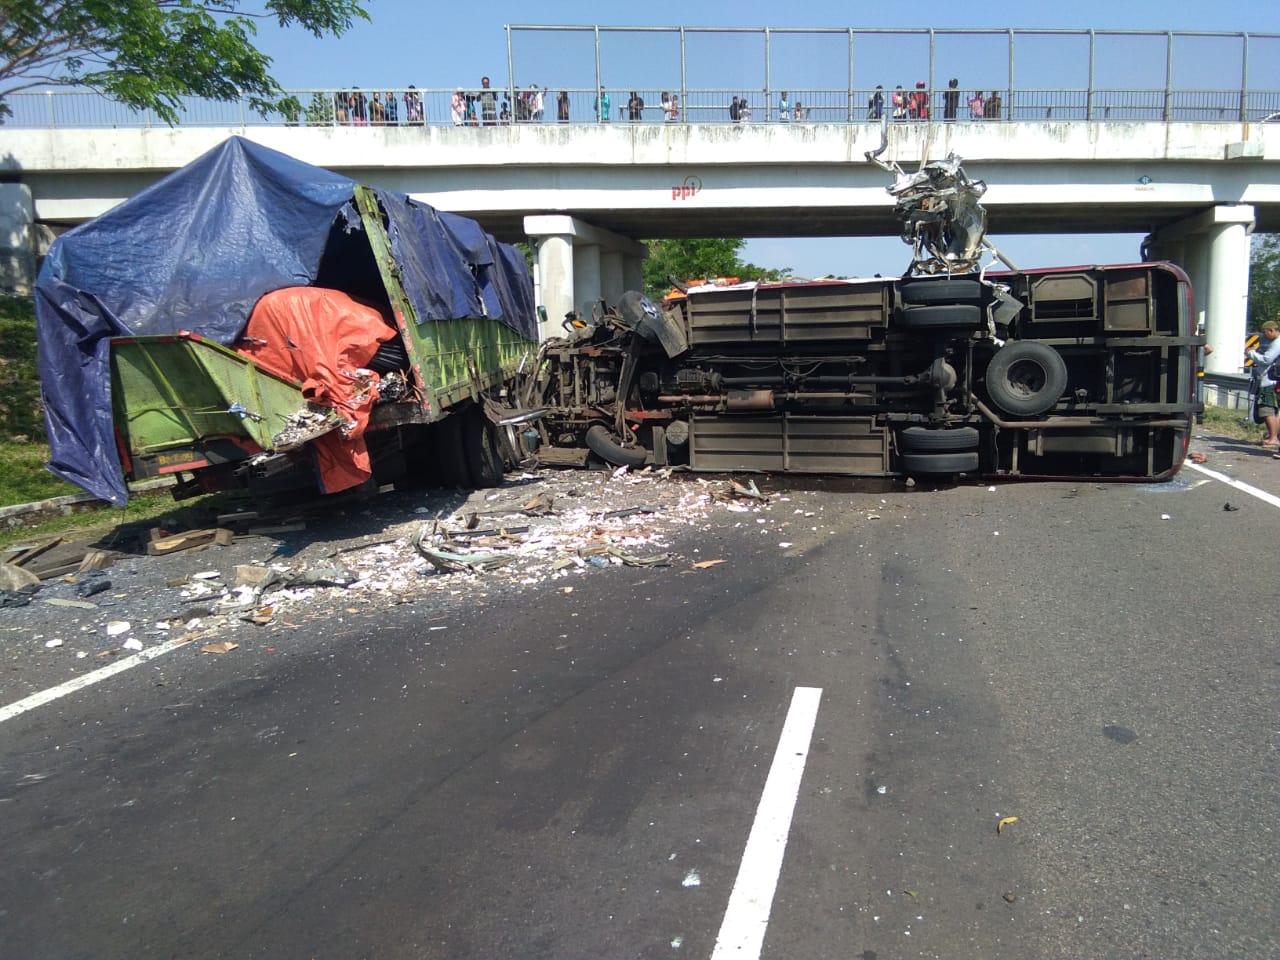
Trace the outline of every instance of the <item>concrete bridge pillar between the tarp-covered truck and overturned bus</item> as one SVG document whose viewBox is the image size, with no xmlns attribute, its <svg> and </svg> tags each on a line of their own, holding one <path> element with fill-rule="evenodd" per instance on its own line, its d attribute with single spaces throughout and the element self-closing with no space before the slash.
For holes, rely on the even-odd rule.
<svg viewBox="0 0 1280 960">
<path fill-rule="evenodd" d="M 568 311 L 590 316 L 598 300 L 614 303 L 626 289 L 643 287 L 644 243 L 564 214 L 526 216 L 525 233 L 538 251 L 534 296 L 547 310 L 543 339 L 563 334 Z"/>
</svg>

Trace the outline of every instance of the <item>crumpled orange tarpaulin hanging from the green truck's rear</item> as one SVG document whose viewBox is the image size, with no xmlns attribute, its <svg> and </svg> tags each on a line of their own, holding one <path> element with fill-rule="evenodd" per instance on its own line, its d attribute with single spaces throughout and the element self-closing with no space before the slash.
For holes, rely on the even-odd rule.
<svg viewBox="0 0 1280 960">
<path fill-rule="evenodd" d="M 308 401 L 333 407 L 349 424 L 314 442 L 324 493 L 372 475 L 364 434 L 379 376 L 365 365 L 397 335 L 372 307 L 323 287 L 285 287 L 253 307 L 237 352 L 276 376 L 301 380 Z"/>
</svg>

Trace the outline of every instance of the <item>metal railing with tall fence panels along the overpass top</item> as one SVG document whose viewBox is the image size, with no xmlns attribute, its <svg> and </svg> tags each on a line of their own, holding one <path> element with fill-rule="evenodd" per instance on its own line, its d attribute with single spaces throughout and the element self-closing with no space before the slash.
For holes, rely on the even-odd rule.
<svg viewBox="0 0 1280 960">
<path fill-rule="evenodd" d="M 532 88 L 515 83 L 515 78 L 529 76 L 526 60 L 532 63 L 539 58 L 517 56 L 517 41 L 534 44 L 547 40 L 554 47 L 568 49 L 575 38 L 590 38 L 594 49 L 594 63 L 586 64 L 585 58 L 575 60 L 572 67 L 561 69 L 562 76 L 573 79 L 573 84 L 552 84 L 543 87 L 543 108 L 539 118 L 529 115 L 526 97 Z M 671 49 L 669 56 L 649 61 L 643 67 L 614 64 L 611 55 L 616 45 L 639 42 L 636 37 L 646 37 L 664 49 Z M 739 123 L 867 123 L 874 119 L 870 109 L 876 84 L 859 82 L 860 76 L 873 69 L 868 63 L 876 63 L 877 51 L 883 59 L 886 51 L 904 51 L 901 63 L 919 64 L 924 76 L 920 92 L 928 97 L 929 122 L 1152 122 L 1152 123 L 1216 123 L 1216 122 L 1280 122 L 1280 73 L 1275 64 L 1280 63 L 1280 33 L 1226 33 L 1226 32 L 1183 32 L 1183 31 L 1094 31 L 1094 29 L 860 29 L 860 28 L 771 28 L 771 27 L 600 27 L 600 26 L 531 26 L 512 24 L 506 27 L 507 38 L 507 83 L 494 87 L 492 113 L 485 102 L 479 100 L 481 91 L 458 91 L 452 87 L 424 87 L 413 91 L 417 100 L 406 97 L 407 88 L 397 90 L 296 90 L 288 91 L 298 104 L 297 113 L 284 114 L 269 111 L 256 113 L 247 101 L 211 101 L 195 97 L 180 104 L 182 125 L 192 127 L 257 127 L 257 125 L 342 125 L 357 124 L 362 119 L 369 125 L 468 125 L 466 105 L 474 109 L 474 123 L 485 125 L 500 123 L 712 123 L 730 124 L 730 106 L 733 97 L 745 100 L 749 116 Z M 690 82 L 691 74 L 705 74 L 705 54 L 700 51 L 704 44 L 716 45 L 731 38 L 741 56 L 741 76 L 756 78 L 754 87 L 746 90 L 722 84 L 714 87 Z M 785 59 L 780 52 L 785 46 L 808 44 L 815 52 L 820 47 L 823 64 L 832 78 L 847 77 L 847 82 L 837 79 L 841 86 L 813 87 L 812 83 L 791 79 L 787 70 L 794 67 L 780 67 Z M 1044 45 L 1057 45 L 1064 51 L 1071 51 L 1076 61 L 1062 64 L 1068 76 L 1078 77 L 1083 83 L 1053 88 L 1038 87 L 1019 77 L 1034 76 L 1036 68 L 1028 69 L 1028 61 L 1036 63 L 1044 56 Z M 1162 59 L 1162 73 L 1158 84 L 1135 84 L 1132 87 L 1108 83 L 1117 68 L 1125 69 L 1125 54 L 1134 44 L 1142 45 L 1147 60 L 1155 63 Z M 751 61 L 750 47 L 758 45 L 758 61 Z M 833 46 L 835 45 L 835 46 Z M 977 116 L 969 101 L 974 96 L 970 87 L 957 88 L 954 100 L 955 116 L 948 110 L 947 86 L 941 70 L 966 56 L 957 54 L 965 45 L 982 45 L 982 67 L 987 77 L 1000 76 L 995 86 L 984 86 L 983 114 Z M 1158 55 L 1152 55 L 1161 47 Z M 577 47 L 575 47 L 577 49 Z M 841 49 L 840 58 L 831 59 L 831 52 Z M 993 50 L 1000 54 L 992 56 Z M 1056 47 L 1055 47 L 1056 49 Z M 922 51 L 927 52 L 922 55 Z M 1234 51 L 1234 56 L 1233 56 Z M 585 49 L 582 52 L 586 52 Z M 1087 54 L 1087 61 L 1084 55 Z M 1021 59 L 1019 59 L 1021 58 Z M 973 63 L 972 58 L 968 58 Z M 1120 61 L 1120 63 L 1116 63 Z M 1221 86 L 1203 88 L 1175 82 L 1175 76 L 1185 63 L 1213 64 L 1212 77 L 1221 79 Z M 1251 64 L 1253 64 L 1251 67 Z M 1260 65 L 1261 64 L 1261 65 Z M 543 69 L 539 67 L 536 69 Z M 628 77 L 618 82 L 617 74 L 626 69 Z M 1148 70 L 1149 73 L 1151 70 Z M 653 77 L 669 77 L 669 82 L 655 86 Z M 808 74 L 806 74 L 808 76 Z M 1251 77 L 1263 77 L 1252 81 Z M 1157 79 L 1148 77 L 1148 79 Z M 991 81 L 988 79 L 989 84 Z M 797 86 L 799 84 L 799 86 Z M 462 110 L 454 109 L 454 93 L 462 92 Z M 678 102 L 677 110 L 663 110 L 663 92 Z M 904 93 L 914 93 L 914 86 Z M 561 95 L 567 99 L 563 115 L 558 109 Z M 602 93 L 608 97 L 608 108 L 602 110 Z M 635 109 L 632 93 L 644 101 L 644 108 Z M 786 95 L 786 113 L 782 118 L 781 104 Z M 883 88 L 884 111 L 891 116 L 893 87 Z M 362 110 L 353 95 L 364 96 Z M 381 116 L 374 115 L 374 96 L 381 105 Z M 998 109 L 992 100 L 998 99 Z M 394 114 L 387 102 L 394 102 Z M 503 102 L 506 101 L 506 111 Z M 164 123 L 146 111 L 136 111 L 97 93 L 83 90 L 49 88 L 35 92 L 13 93 L 5 97 L 13 110 L 13 116 L 5 120 L 6 127 L 27 128 L 102 128 L 102 127 L 157 127 Z M 421 119 L 417 119 L 416 106 L 421 104 Z M 343 120 L 343 110 L 347 119 Z M 364 116 L 358 116 L 362 111 Z M 506 113 L 506 115 L 504 115 Z M 458 115 L 456 115 L 458 114 Z M 872 115 L 869 115 L 872 114 Z M 909 119 L 909 118 L 908 118 Z"/>
</svg>

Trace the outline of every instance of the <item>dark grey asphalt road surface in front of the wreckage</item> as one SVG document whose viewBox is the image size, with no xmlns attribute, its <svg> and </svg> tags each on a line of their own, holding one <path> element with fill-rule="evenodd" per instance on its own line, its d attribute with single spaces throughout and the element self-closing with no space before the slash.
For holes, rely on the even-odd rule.
<svg viewBox="0 0 1280 960">
<path fill-rule="evenodd" d="M 0 952 L 1280 956 L 1277 502 L 786 497 L 4 719 Z"/>
</svg>

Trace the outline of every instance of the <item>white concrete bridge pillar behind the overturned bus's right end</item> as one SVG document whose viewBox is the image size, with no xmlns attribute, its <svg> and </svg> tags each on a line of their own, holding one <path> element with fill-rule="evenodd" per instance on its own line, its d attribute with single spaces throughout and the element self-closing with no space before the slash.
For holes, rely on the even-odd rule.
<svg viewBox="0 0 1280 960">
<path fill-rule="evenodd" d="M 1151 238 L 1152 252 L 1178 262 L 1192 280 L 1196 319 L 1203 321 L 1204 335 L 1213 346 L 1204 361 L 1211 374 L 1240 371 L 1252 232 L 1253 207 L 1225 204 L 1162 227 Z M 1172 253 L 1179 248 L 1183 259 L 1175 260 Z"/>
</svg>

